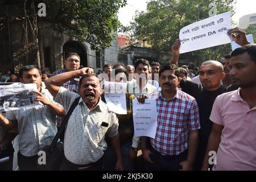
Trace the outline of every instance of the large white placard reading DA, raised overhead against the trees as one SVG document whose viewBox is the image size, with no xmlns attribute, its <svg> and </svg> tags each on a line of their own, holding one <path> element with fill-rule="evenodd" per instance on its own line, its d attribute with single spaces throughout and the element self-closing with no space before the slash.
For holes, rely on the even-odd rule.
<svg viewBox="0 0 256 182">
<path fill-rule="evenodd" d="M 180 53 L 231 43 L 232 37 L 227 34 L 231 27 L 232 20 L 228 11 L 181 28 Z"/>
</svg>

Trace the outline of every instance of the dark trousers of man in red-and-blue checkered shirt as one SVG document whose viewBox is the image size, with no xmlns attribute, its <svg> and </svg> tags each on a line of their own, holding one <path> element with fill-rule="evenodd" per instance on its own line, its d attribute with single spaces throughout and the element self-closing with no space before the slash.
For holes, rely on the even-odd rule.
<svg viewBox="0 0 256 182">
<path fill-rule="evenodd" d="M 144 162 L 143 169 L 146 171 L 179 171 L 180 163 L 187 160 L 188 151 L 185 150 L 179 155 L 161 155 L 153 147 L 150 147 L 152 163 Z"/>
</svg>

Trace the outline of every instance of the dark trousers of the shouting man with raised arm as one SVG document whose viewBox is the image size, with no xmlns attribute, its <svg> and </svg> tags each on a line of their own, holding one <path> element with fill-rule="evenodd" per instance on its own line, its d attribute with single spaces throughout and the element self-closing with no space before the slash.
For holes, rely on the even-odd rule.
<svg viewBox="0 0 256 182">
<path fill-rule="evenodd" d="M 64 156 L 60 164 L 60 171 L 102 171 L 102 158 L 95 163 L 78 165 L 69 162 Z"/>
</svg>

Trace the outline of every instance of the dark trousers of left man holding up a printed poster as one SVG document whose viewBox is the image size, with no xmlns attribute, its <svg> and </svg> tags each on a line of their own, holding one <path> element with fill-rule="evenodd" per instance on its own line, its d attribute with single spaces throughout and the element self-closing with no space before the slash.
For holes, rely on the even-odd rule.
<svg viewBox="0 0 256 182">
<path fill-rule="evenodd" d="M 37 171 L 38 155 L 24 156 L 18 152 L 18 166 L 20 171 Z"/>
</svg>

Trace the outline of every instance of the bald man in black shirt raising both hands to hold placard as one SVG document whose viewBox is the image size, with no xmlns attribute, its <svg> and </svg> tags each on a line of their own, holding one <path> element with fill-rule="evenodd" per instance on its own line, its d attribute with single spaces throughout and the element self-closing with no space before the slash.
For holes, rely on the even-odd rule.
<svg viewBox="0 0 256 182">
<path fill-rule="evenodd" d="M 228 32 L 228 34 L 233 33 L 237 33 L 236 37 L 233 36 L 233 39 L 240 46 L 249 43 L 247 42 L 246 32 L 242 28 L 233 28 Z M 180 40 L 176 40 L 171 47 L 173 55 L 170 60 L 171 64 L 177 64 L 180 45 Z M 212 130 L 212 121 L 210 121 L 209 117 L 213 102 L 220 94 L 238 89 L 237 86 L 226 87 L 225 85 L 221 85 L 221 80 L 225 78 L 225 73 L 223 65 L 218 61 L 209 60 L 202 63 L 199 69 L 199 78 L 201 84 L 182 79 L 180 81 L 180 87 L 183 92 L 195 97 L 199 105 L 201 129 L 199 130 L 199 149 L 194 168 L 196 170 L 200 170 L 202 167 L 208 138 Z"/>
</svg>

